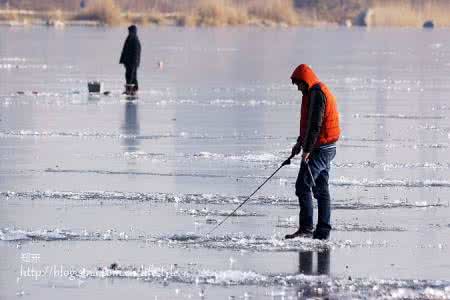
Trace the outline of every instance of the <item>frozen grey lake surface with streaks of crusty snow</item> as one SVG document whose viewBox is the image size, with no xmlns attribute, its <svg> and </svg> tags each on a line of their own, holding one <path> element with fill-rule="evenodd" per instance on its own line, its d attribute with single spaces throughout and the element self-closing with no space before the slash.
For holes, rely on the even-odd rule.
<svg viewBox="0 0 450 300">
<path fill-rule="evenodd" d="M 0 298 L 450 299 L 450 36 L 0 28 Z M 163 68 L 159 68 L 162 62 Z M 296 230 L 308 63 L 337 96 L 329 241 Z M 87 94 L 102 80 L 109 96 Z"/>
</svg>

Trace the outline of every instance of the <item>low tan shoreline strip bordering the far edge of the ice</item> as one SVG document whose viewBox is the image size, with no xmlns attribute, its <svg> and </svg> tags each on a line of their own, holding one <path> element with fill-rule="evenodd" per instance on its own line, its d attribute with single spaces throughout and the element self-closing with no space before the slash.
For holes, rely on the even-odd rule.
<svg viewBox="0 0 450 300">
<path fill-rule="evenodd" d="M 447 24 L 436 26 L 432 20 L 427 20 L 423 24 L 392 24 L 374 22 L 373 12 L 368 10 L 362 17 L 354 20 L 346 19 L 343 22 L 333 22 L 327 20 L 313 19 L 309 14 L 299 13 L 296 22 L 286 20 L 274 20 L 262 17 L 247 17 L 236 22 L 211 22 L 211 19 L 201 19 L 199 16 L 189 13 L 121 13 L 114 23 L 108 23 L 96 16 L 83 16 L 74 12 L 62 11 L 32 11 L 32 10 L 4 10 L 0 9 L 0 26 L 26 27 L 26 26 L 47 26 L 63 28 L 65 26 L 86 26 L 86 27 L 120 27 L 129 24 L 136 24 L 140 27 L 146 26 L 169 26 L 169 27 L 190 27 L 190 28 L 225 28 L 225 27 L 259 27 L 259 28 L 333 28 L 333 27 L 367 27 L 367 28 L 449 28 Z M 432 26 L 425 24 L 432 22 Z"/>
</svg>

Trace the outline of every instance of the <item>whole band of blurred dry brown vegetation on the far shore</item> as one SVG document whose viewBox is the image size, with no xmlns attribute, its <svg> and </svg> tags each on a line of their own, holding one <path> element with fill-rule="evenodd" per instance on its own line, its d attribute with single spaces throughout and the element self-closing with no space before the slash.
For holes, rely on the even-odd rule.
<svg viewBox="0 0 450 300">
<path fill-rule="evenodd" d="M 0 10 L 0 20 L 107 25 L 450 25 L 450 0 L 0 0 Z"/>
</svg>

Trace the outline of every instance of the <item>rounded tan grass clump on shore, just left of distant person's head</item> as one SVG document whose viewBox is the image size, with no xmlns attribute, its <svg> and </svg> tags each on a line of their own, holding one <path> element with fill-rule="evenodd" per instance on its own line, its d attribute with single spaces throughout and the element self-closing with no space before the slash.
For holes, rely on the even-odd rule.
<svg viewBox="0 0 450 300">
<path fill-rule="evenodd" d="M 122 13 L 114 0 L 97 0 L 90 4 L 85 11 L 73 17 L 77 21 L 98 21 L 107 25 L 119 25 Z"/>
</svg>

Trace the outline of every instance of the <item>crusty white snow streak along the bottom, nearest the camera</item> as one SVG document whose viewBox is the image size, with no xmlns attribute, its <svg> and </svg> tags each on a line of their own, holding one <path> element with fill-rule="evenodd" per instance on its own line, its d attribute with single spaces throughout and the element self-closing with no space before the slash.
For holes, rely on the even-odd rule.
<svg viewBox="0 0 450 300">
<path fill-rule="evenodd" d="M 185 283 L 219 286 L 283 287 L 272 295 L 308 296 L 312 298 L 369 298 L 369 299 L 450 299 L 450 282 L 445 280 L 401 280 L 339 278 L 328 275 L 268 273 L 252 270 L 210 270 L 192 266 L 101 266 L 97 269 L 81 268 L 75 277 L 138 279 L 148 282 Z M 340 297 L 341 296 L 341 297 Z"/>
</svg>

